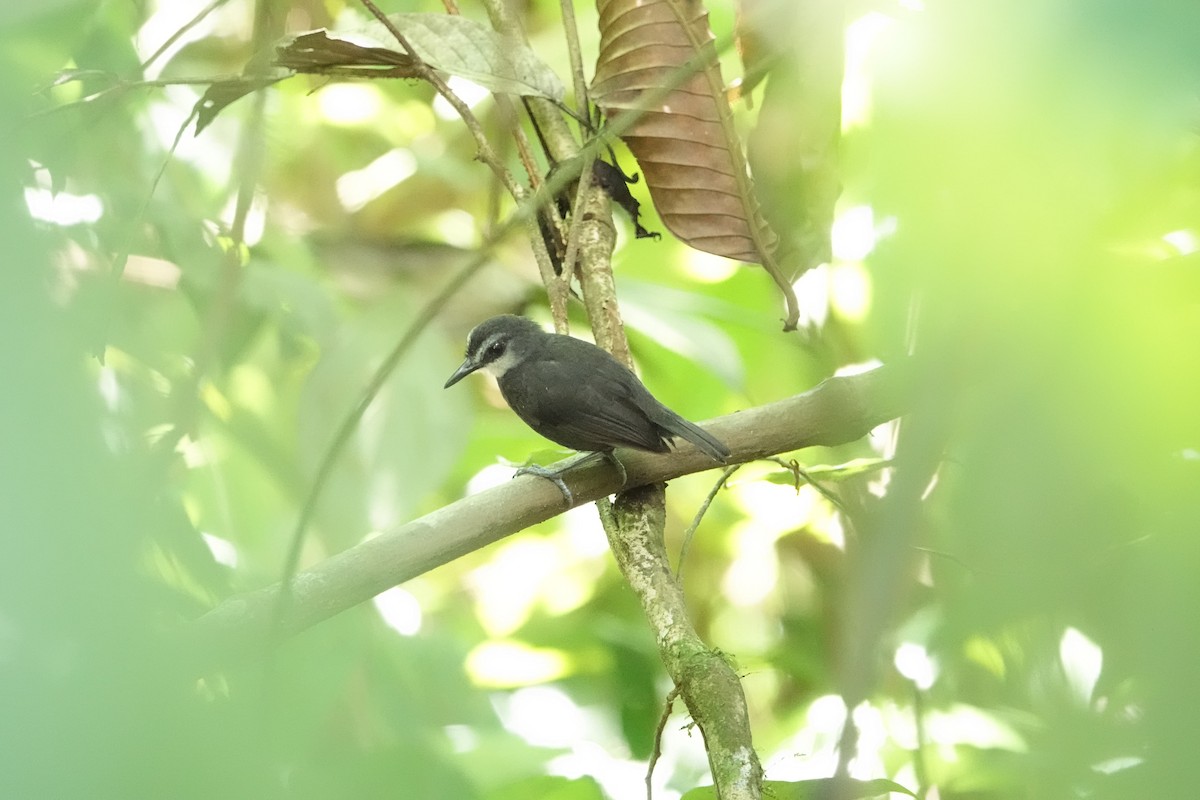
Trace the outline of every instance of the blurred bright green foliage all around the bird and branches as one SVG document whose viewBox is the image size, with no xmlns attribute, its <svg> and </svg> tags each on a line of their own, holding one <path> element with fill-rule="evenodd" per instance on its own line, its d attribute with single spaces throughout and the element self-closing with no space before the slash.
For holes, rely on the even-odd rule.
<svg viewBox="0 0 1200 800">
<path fill-rule="evenodd" d="M 203 85 L 137 82 L 233 74 L 256 47 L 232 0 L 143 72 L 203 5 L 0 11 L 0 795 L 643 796 L 667 686 L 590 509 L 197 673 L 188 622 L 278 578 L 336 426 L 510 209 L 414 83 L 293 78 L 172 151 Z M 800 281 L 804 330 L 780 332 L 754 267 L 618 223 L 635 356 L 691 419 L 913 355 L 894 440 L 797 456 L 893 459 L 829 485 L 851 518 L 770 464 L 718 495 L 684 572 L 695 622 L 739 664 L 769 778 L 833 771 L 845 696 L 858 778 L 1178 796 L 1200 709 L 1200 6 L 918 6 L 846 7 L 870 104 L 839 221 L 869 207 L 871 230 Z M 364 18 L 259 10 L 289 31 Z M 526 24 L 565 79 L 551 4 Z M 376 398 L 304 563 L 545 449 L 482 380 L 442 390 L 475 321 L 545 315 L 526 245 L 492 258 Z M 672 483 L 673 551 L 713 480 Z M 706 776 L 673 716 L 655 796 Z"/>
</svg>

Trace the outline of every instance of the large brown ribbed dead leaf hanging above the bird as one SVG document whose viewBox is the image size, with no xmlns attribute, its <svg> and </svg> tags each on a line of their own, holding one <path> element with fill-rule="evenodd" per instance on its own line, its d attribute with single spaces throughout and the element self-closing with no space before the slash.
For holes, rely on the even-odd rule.
<svg viewBox="0 0 1200 800">
<path fill-rule="evenodd" d="M 662 223 L 696 249 L 762 264 L 798 303 L 774 260 L 776 236 L 754 194 L 700 0 L 596 0 L 600 56 L 592 96 L 623 130 Z M 628 127 L 625 127 L 628 126 Z"/>
</svg>

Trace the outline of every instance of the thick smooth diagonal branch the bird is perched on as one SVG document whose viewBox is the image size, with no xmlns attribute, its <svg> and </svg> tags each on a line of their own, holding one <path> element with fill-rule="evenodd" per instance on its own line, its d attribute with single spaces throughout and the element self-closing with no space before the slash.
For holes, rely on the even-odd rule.
<svg viewBox="0 0 1200 800">
<path fill-rule="evenodd" d="M 859 375 L 829 378 L 817 387 L 775 403 L 713 420 L 707 427 L 733 450 L 733 461 L 752 461 L 814 445 L 859 439 L 905 413 L 902 371 L 881 367 Z M 622 451 L 626 488 L 710 469 L 694 447 L 667 455 Z M 576 505 L 617 492 L 607 463 L 572 474 Z M 548 481 L 522 476 L 463 498 L 400 528 L 370 539 L 299 572 L 278 636 L 290 636 L 352 608 L 396 584 L 491 545 L 564 511 Z M 260 645 L 268 634 L 278 584 L 229 597 L 193 625 L 205 660 L 222 661 Z"/>
</svg>

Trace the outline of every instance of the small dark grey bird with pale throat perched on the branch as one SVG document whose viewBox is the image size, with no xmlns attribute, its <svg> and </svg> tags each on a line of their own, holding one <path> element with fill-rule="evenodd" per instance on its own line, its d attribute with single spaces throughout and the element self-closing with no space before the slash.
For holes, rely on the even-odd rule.
<svg viewBox="0 0 1200 800">
<path fill-rule="evenodd" d="M 476 325 L 467 335 L 466 357 L 445 389 L 476 369 L 496 378 L 504 401 L 526 425 L 564 447 L 604 456 L 620 471 L 623 485 L 625 468 L 613 455 L 614 447 L 664 453 L 678 437 L 713 461 L 728 463 L 725 443 L 655 399 L 606 350 L 545 331 L 524 317 L 502 314 Z M 558 469 L 524 467 L 517 474 L 553 481 L 572 505 L 562 475 L 583 461 Z"/>
</svg>

